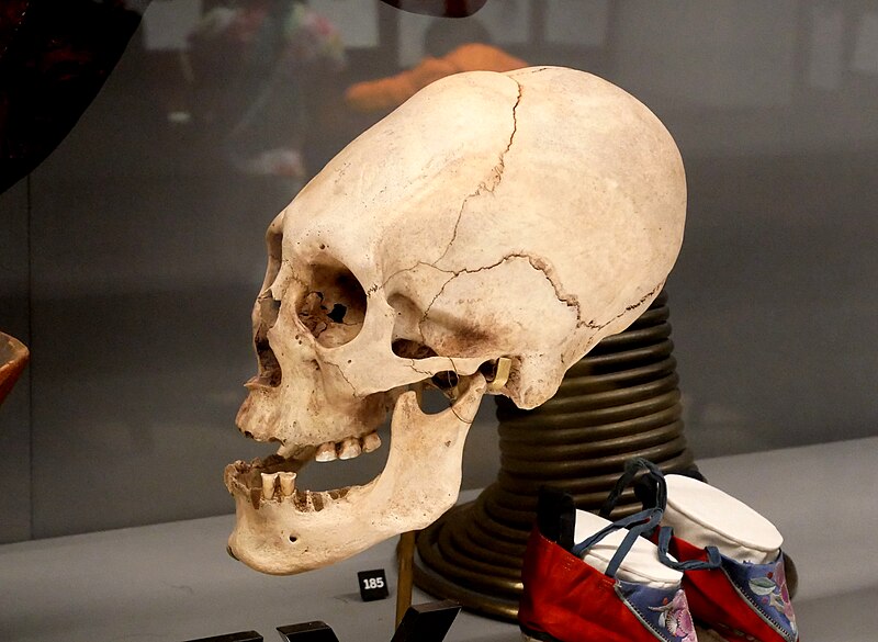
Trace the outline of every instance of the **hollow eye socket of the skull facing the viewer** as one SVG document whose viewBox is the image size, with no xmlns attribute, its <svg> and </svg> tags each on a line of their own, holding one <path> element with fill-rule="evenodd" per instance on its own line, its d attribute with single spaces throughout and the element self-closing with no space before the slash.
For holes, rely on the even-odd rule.
<svg viewBox="0 0 878 642">
<path fill-rule="evenodd" d="M 313 266 L 308 288 L 296 305 L 299 320 L 327 348 L 344 346 L 360 334 L 365 291 L 342 263 L 324 258 Z"/>
</svg>

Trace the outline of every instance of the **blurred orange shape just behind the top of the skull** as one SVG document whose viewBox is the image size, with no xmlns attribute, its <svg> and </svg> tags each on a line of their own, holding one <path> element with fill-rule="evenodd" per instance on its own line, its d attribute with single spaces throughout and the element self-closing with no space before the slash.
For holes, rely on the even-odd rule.
<svg viewBox="0 0 878 642">
<path fill-rule="evenodd" d="M 417 67 L 396 76 L 358 82 L 345 92 L 352 110 L 373 112 L 392 110 L 430 82 L 461 71 L 511 71 L 528 64 L 493 45 L 470 43 L 441 58 L 424 58 Z"/>
</svg>

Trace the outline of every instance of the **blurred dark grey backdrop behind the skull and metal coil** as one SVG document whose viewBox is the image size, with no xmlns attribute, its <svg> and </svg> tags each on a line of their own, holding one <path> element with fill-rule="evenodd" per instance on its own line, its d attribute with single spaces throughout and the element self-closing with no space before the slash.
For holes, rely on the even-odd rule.
<svg viewBox="0 0 878 642">
<path fill-rule="evenodd" d="M 878 435 L 878 2 L 488 0 L 452 20 L 153 0 L 72 132 L 0 195 L 0 328 L 32 352 L 0 408 L 0 542 L 230 513 L 223 468 L 271 450 L 234 426 L 266 227 L 419 86 L 520 65 L 610 80 L 679 145 L 666 290 L 696 457 Z M 493 413 L 464 487 L 496 474 Z"/>
</svg>

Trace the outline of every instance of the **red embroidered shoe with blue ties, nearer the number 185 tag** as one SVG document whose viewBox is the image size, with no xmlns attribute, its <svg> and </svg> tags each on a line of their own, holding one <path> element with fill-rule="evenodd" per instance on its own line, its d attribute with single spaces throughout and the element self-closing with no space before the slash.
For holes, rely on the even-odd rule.
<svg viewBox="0 0 878 642">
<path fill-rule="evenodd" d="M 697 642 L 680 582 L 640 537 L 662 510 L 610 522 L 540 493 L 522 568 L 522 638 L 540 642 Z M 575 544 L 574 541 L 579 541 Z"/>
</svg>

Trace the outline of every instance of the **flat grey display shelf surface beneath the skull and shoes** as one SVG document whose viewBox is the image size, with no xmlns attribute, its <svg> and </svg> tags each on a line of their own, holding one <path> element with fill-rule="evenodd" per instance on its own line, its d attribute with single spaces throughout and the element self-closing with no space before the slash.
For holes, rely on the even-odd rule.
<svg viewBox="0 0 878 642">
<path fill-rule="evenodd" d="M 699 461 L 711 483 L 769 517 L 799 572 L 802 642 L 873 642 L 878 630 L 878 437 Z M 472 498 L 474 493 L 464 494 Z M 83 506 L 100 510 L 100 506 Z M 233 516 L 0 547 L 3 642 L 179 642 L 309 620 L 340 642 L 389 641 L 395 593 L 363 602 L 357 572 L 383 567 L 394 543 L 292 577 L 225 553 Z M 416 589 L 414 601 L 430 601 Z M 461 613 L 448 642 L 518 640 L 515 626 Z"/>
</svg>

